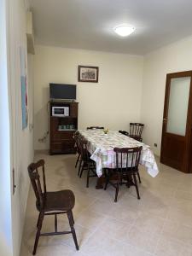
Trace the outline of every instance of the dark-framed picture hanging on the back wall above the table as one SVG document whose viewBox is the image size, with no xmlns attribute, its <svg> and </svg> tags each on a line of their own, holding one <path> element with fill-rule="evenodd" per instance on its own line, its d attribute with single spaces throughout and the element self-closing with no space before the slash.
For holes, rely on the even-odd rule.
<svg viewBox="0 0 192 256">
<path fill-rule="evenodd" d="M 78 81 L 98 83 L 99 67 L 81 66 L 78 68 Z"/>
</svg>

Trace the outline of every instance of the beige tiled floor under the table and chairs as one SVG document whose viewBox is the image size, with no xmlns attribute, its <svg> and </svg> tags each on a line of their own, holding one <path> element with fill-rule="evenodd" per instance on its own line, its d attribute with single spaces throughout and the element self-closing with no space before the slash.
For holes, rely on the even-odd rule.
<svg viewBox="0 0 192 256">
<path fill-rule="evenodd" d="M 141 166 L 141 200 L 135 188 L 123 186 L 119 201 L 114 190 L 96 190 L 96 177 L 85 188 L 77 176 L 75 155 L 37 155 L 46 161 L 49 190 L 72 189 L 79 241 L 76 252 L 71 235 L 40 237 L 37 255 L 59 256 L 189 256 L 192 255 L 192 175 L 158 163 L 160 174 L 150 177 Z M 26 209 L 21 256 L 32 255 L 38 212 L 32 189 Z M 67 216 L 60 216 L 61 230 L 68 230 Z M 45 217 L 43 230 L 54 229 L 54 218 Z"/>
</svg>

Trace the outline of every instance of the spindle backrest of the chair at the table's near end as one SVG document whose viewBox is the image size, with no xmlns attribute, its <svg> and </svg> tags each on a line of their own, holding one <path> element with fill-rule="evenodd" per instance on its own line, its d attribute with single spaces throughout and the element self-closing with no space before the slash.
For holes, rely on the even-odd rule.
<svg viewBox="0 0 192 256">
<path fill-rule="evenodd" d="M 116 153 L 115 167 L 117 172 L 135 171 L 138 168 L 143 147 L 113 148 Z"/>
</svg>

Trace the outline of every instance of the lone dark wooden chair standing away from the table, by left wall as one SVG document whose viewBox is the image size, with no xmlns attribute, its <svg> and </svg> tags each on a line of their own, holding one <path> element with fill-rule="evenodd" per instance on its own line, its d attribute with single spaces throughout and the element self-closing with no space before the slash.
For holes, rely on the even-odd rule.
<svg viewBox="0 0 192 256">
<path fill-rule="evenodd" d="M 42 169 L 44 191 L 42 190 L 39 169 Z M 29 177 L 32 182 L 32 188 L 36 195 L 36 207 L 39 212 L 36 239 L 33 247 L 32 254 L 35 255 L 38 247 L 38 240 L 40 236 L 55 236 L 62 234 L 72 234 L 75 247 L 79 250 L 77 237 L 73 227 L 74 219 L 72 209 L 75 204 L 75 197 L 71 190 L 61 190 L 56 192 L 47 192 L 45 182 L 44 160 L 39 160 L 37 163 L 32 163 L 28 166 Z M 71 227 L 71 231 L 58 231 L 57 230 L 57 215 L 67 213 L 67 218 Z M 55 215 L 55 232 L 41 233 L 42 224 L 45 215 Z"/>
</svg>

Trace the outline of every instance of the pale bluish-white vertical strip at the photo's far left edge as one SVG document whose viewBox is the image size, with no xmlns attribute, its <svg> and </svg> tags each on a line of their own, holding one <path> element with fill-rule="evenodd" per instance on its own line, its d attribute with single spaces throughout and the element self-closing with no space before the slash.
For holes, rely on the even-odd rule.
<svg viewBox="0 0 192 256">
<path fill-rule="evenodd" d="M 0 253 L 12 255 L 6 1 L 0 1 Z"/>
</svg>

